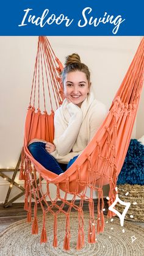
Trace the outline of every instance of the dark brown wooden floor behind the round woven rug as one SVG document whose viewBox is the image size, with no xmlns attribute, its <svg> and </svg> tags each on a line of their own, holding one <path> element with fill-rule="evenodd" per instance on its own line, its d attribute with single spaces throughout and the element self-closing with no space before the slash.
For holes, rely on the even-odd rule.
<svg viewBox="0 0 144 256">
<path fill-rule="evenodd" d="M 77 203 L 77 202 L 76 202 Z M 94 200 L 94 208 L 97 209 L 97 201 Z M 105 203 L 104 214 L 107 214 L 107 203 Z M 67 210 L 67 207 L 65 207 Z M 83 207 L 84 211 L 88 211 L 88 203 L 84 203 Z M 95 210 L 96 212 L 96 210 Z M 42 214 L 41 208 L 38 207 L 38 214 Z M 33 216 L 33 214 L 32 214 Z M 27 211 L 24 210 L 24 203 L 13 203 L 12 206 L 4 208 L 4 206 L 0 205 L 0 232 L 6 229 L 10 224 L 21 221 L 22 219 L 26 219 Z M 144 227 L 144 222 L 132 222 L 135 225 L 140 225 Z"/>
</svg>

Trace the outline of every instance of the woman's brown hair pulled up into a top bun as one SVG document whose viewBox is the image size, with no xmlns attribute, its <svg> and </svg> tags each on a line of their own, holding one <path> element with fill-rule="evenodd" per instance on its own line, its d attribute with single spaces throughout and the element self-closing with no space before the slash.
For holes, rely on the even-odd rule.
<svg viewBox="0 0 144 256">
<path fill-rule="evenodd" d="M 88 82 L 90 82 L 90 71 L 88 70 L 87 65 L 81 62 L 81 59 L 79 57 L 79 54 L 73 53 L 71 55 L 68 55 L 65 58 L 65 68 L 63 68 L 61 72 L 62 76 L 62 82 L 65 80 L 65 77 L 68 73 L 74 72 L 74 71 L 82 71 L 85 73 Z"/>
</svg>

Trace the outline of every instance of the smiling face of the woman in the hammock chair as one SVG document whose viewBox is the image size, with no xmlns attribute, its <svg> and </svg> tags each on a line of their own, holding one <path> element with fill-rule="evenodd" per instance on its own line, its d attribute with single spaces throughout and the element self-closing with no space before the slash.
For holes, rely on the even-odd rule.
<svg viewBox="0 0 144 256">
<path fill-rule="evenodd" d="M 87 98 L 87 93 L 90 91 L 90 83 L 88 83 L 85 73 L 82 71 L 68 73 L 63 87 L 65 97 L 81 108 L 82 101 Z"/>
</svg>

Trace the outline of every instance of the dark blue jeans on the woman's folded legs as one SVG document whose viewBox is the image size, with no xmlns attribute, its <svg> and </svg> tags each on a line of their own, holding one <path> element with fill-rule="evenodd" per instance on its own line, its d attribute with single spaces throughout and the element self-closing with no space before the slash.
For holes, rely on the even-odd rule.
<svg viewBox="0 0 144 256">
<path fill-rule="evenodd" d="M 73 159 L 70 160 L 68 164 L 58 163 L 54 156 L 50 155 L 45 149 L 46 143 L 44 142 L 33 142 L 28 146 L 29 152 L 31 152 L 32 156 L 44 166 L 46 169 L 51 170 L 54 174 L 62 174 L 67 170 L 71 164 L 74 163 L 78 156 L 74 156 Z"/>
</svg>

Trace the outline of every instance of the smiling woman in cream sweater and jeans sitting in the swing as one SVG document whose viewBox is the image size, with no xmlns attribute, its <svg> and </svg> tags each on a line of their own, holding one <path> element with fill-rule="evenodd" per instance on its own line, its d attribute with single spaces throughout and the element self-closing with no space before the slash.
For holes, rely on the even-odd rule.
<svg viewBox="0 0 144 256">
<path fill-rule="evenodd" d="M 90 92 L 90 71 L 78 54 L 67 56 L 61 73 L 65 100 L 54 115 L 53 144 L 39 139 L 29 151 L 46 169 L 62 174 L 82 153 L 106 117 L 106 106 Z"/>
</svg>

